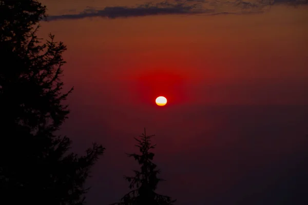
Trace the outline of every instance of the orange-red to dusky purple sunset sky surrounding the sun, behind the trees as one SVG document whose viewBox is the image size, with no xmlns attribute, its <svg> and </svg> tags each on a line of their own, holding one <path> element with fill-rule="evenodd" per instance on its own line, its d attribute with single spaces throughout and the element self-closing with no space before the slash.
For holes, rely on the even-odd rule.
<svg viewBox="0 0 308 205">
<path fill-rule="evenodd" d="M 67 45 L 75 88 L 61 133 L 80 154 L 106 147 L 88 204 L 128 191 L 125 152 L 144 127 L 167 180 L 158 192 L 178 205 L 308 204 L 306 1 L 41 2 L 40 36 Z"/>
</svg>

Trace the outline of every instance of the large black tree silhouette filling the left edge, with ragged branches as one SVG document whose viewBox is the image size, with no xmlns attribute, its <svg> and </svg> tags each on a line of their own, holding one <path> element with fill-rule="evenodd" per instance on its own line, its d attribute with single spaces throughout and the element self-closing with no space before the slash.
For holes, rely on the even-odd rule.
<svg viewBox="0 0 308 205">
<path fill-rule="evenodd" d="M 83 204 L 85 180 L 103 154 L 68 152 L 56 132 L 69 114 L 64 104 L 66 47 L 36 33 L 46 7 L 35 0 L 0 0 L 0 195 L 4 204 Z"/>
</svg>

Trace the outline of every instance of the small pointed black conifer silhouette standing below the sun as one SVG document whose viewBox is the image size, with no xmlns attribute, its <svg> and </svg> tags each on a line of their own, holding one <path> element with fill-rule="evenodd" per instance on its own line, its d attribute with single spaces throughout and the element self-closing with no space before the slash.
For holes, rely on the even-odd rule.
<svg viewBox="0 0 308 205">
<path fill-rule="evenodd" d="M 129 157 L 133 157 L 141 165 L 140 171 L 133 170 L 135 176 L 124 178 L 130 182 L 129 189 L 130 192 L 125 194 L 119 203 L 113 204 L 123 204 L 123 205 L 169 205 L 174 204 L 176 200 L 171 200 L 169 196 L 164 196 L 157 194 L 155 191 L 160 179 L 157 177 L 157 174 L 160 173 L 160 170 L 157 169 L 157 165 L 152 162 L 154 153 L 150 152 L 151 149 L 154 149 L 156 145 L 151 145 L 151 137 L 155 135 L 146 135 L 144 133 L 140 138 L 134 137 L 138 142 L 136 147 L 139 148 L 140 154 L 127 154 Z"/>
</svg>

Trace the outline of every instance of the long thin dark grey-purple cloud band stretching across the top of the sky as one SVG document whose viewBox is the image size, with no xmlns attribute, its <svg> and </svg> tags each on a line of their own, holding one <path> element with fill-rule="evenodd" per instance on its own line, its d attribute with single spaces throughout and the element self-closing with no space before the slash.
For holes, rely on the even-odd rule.
<svg viewBox="0 0 308 205">
<path fill-rule="evenodd" d="M 172 0 L 145 3 L 135 7 L 115 6 L 103 9 L 87 7 L 80 13 L 48 16 L 47 20 L 79 19 L 86 17 L 137 17 L 171 14 L 251 14 L 262 13 L 274 5 L 307 5 L 308 0 Z"/>
</svg>

